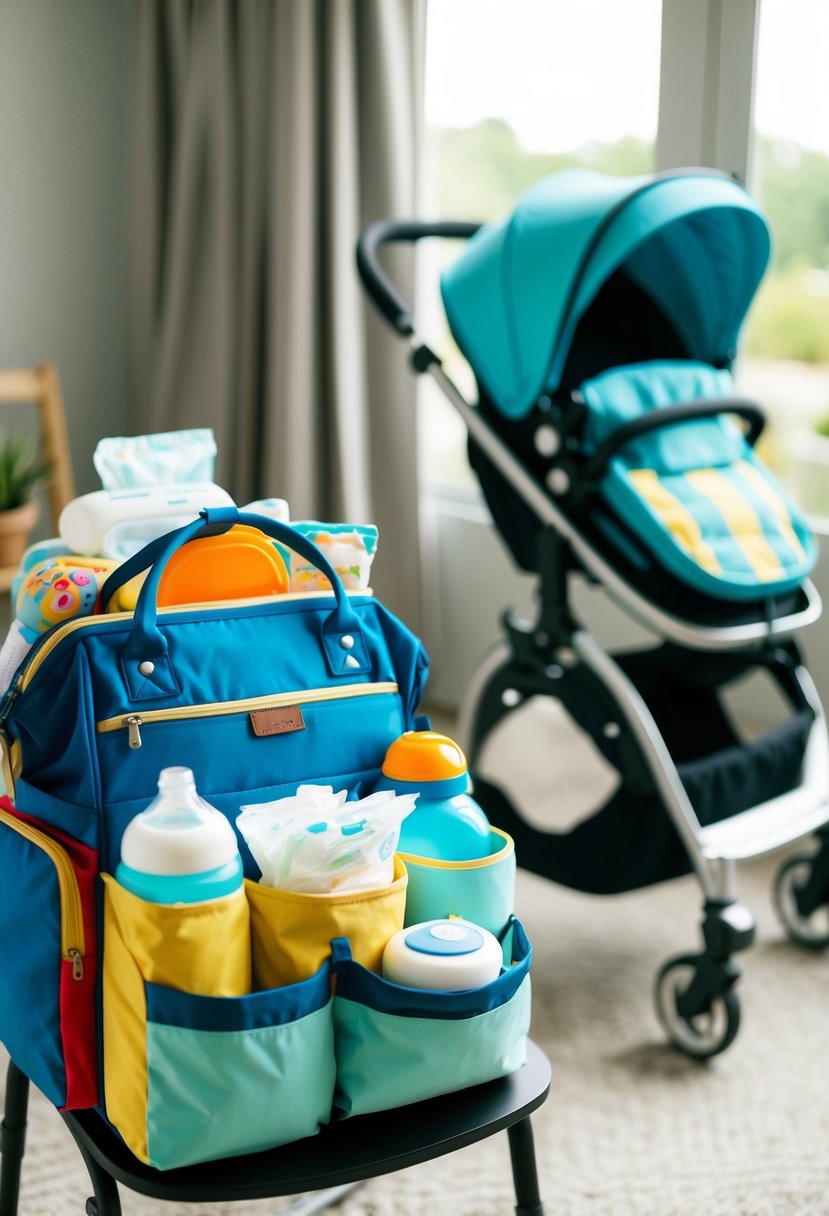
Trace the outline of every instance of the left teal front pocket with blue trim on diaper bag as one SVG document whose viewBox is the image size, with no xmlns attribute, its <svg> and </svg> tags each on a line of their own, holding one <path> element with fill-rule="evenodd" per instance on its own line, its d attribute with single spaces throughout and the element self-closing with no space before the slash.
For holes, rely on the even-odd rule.
<svg viewBox="0 0 829 1216">
<path fill-rule="evenodd" d="M 147 1155 L 159 1170 L 256 1153 L 331 1116 L 331 968 L 243 997 L 147 996 Z"/>
</svg>

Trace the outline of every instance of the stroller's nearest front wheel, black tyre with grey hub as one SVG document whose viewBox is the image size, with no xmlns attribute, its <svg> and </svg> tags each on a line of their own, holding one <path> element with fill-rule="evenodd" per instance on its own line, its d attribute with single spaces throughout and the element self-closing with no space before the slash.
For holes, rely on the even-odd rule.
<svg viewBox="0 0 829 1216">
<path fill-rule="evenodd" d="M 705 962 L 705 956 L 681 955 L 669 959 L 656 976 L 656 1015 L 662 1029 L 677 1051 L 695 1059 L 724 1052 L 740 1025 L 740 1002 L 732 987 L 704 998 L 698 1013 L 682 1009 Z"/>
</svg>

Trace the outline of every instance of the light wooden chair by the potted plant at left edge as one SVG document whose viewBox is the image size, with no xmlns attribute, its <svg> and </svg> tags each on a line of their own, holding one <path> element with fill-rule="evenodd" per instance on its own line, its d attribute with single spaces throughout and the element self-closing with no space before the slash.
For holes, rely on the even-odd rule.
<svg viewBox="0 0 829 1216">
<path fill-rule="evenodd" d="M 4 405 L 34 405 L 38 409 L 41 450 L 50 465 L 45 489 L 51 522 L 57 530 L 61 511 L 75 496 L 57 368 L 52 364 L 41 364 L 39 367 L 0 370 L 0 406 Z M 0 591 L 9 590 L 16 573 L 17 567 L 0 568 Z"/>
</svg>

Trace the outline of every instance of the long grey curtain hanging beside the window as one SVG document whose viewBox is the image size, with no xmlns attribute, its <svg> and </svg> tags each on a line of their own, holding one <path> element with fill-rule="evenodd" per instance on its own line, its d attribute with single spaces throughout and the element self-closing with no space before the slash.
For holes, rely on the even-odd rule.
<svg viewBox="0 0 829 1216">
<path fill-rule="evenodd" d="M 216 479 L 293 518 L 377 523 L 419 625 L 414 383 L 354 269 L 414 213 L 418 0 L 141 0 L 130 428 L 213 427 Z M 411 264 L 388 263 L 405 292 Z"/>
</svg>

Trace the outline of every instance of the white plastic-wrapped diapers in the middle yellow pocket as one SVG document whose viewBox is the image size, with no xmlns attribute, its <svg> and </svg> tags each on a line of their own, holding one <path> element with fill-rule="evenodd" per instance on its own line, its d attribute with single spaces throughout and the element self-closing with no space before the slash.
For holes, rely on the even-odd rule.
<svg viewBox="0 0 829 1216">
<path fill-rule="evenodd" d="M 380 790 L 359 801 L 332 786 L 300 786 L 293 798 L 242 807 L 236 826 L 261 871 L 260 883 L 325 895 L 388 886 L 400 824 L 417 794 Z"/>
</svg>

